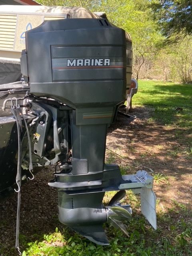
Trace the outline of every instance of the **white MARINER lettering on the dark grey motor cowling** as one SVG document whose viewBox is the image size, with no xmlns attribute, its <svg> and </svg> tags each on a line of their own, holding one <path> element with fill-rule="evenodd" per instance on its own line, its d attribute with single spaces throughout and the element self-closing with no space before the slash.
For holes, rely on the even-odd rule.
<svg viewBox="0 0 192 256">
<path fill-rule="evenodd" d="M 110 59 L 67 59 L 67 67 L 110 66 Z"/>
</svg>

